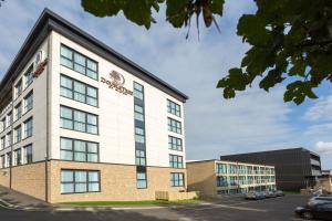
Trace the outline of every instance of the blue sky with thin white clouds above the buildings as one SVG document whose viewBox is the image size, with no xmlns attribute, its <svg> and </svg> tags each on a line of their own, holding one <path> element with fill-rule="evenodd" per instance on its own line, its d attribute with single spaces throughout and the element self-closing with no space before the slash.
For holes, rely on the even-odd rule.
<svg viewBox="0 0 332 221">
<path fill-rule="evenodd" d="M 325 83 L 319 99 L 297 106 L 283 103 L 286 85 L 269 93 L 252 86 L 234 99 L 216 88 L 227 71 L 240 64 L 249 49 L 237 36 L 238 19 L 256 10 L 253 1 L 226 0 L 217 18 L 221 33 L 200 22 L 189 39 L 186 29 L 165 21 L 165 7 L 147 31 L 122 14 L 95 18 L 80 0 L 7 0 L 0 8 L 0 78 L 44 8 L 49 8 L 115 51 L 189 96 L 185 105 L 187 159 L 304 147 L 320 154 L 323 169 L 332 169 L 332 92 Z"/>
</svg>

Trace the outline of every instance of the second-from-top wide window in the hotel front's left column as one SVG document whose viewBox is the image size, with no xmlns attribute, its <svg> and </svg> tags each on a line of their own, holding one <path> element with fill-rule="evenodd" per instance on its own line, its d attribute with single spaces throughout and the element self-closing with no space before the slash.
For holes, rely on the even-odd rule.
<svg viewBox="0 0 332 221">
<path fill-rule="evenodd" d="M 60 82 L 61 96 L 92 106 L 97 106 L 97 88 L 64 75 L 61 75 Z"/>
</svg>

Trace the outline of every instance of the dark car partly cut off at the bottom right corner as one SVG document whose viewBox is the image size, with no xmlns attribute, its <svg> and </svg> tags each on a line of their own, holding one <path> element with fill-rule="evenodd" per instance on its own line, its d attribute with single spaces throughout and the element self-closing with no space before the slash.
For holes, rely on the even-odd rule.
<svg viewBox="0 0 332 221">
<path fill-rule="evenodd" d="M 317 203 L 313 206 L 298 207 L 295 213 L 304 219 L 332 220 L 332 203 Z"/>
</svg>

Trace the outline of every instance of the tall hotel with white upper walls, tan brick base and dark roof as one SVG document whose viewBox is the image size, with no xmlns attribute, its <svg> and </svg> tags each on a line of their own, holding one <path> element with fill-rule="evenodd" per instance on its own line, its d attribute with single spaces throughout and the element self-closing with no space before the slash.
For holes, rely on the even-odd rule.
<svg viewBox="0 0 332 221">
<path fill-rule="evenodd" d="M 49 202 L 186 191 L 187 98 L 45 9 L 0 84 L 0 185 Z"/>
</svg>

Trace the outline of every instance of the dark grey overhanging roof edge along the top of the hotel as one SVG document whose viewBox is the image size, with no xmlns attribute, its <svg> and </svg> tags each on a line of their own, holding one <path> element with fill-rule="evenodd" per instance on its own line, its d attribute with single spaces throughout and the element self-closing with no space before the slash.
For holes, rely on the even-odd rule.
<svg viewBox="0 0 332 221">
<path fill-rule="evenodd" d="M 17 54 L 14 61 L 10 65 L 8 72 L 6 73 L 3 80 L 0 83 L 0 94 L 3 94 L 2 90 L 4 85 L 8 82 L 10 82 L 10 80 L 13 80 L 13 77 L 17 76 L 17 74 L 21 71 L 21 66 L 24 66 L 29 59 L 32 56 L 32 54 L 28 52 L 35 51 L 35 49 L 41 44 L 42 40 L 44 40 L 44 38 L 51 30 L 54 30 L 55 32 L 65 35 L 66 38 L 75 41 L 84 48 L 87 48 L 94 53 L 105 57 L 110 62 L 115 63 L 116 65 L 128 71 L 129 73 L 142 78 L 143 81 L 156 86 L 157 88 L 169 94 L 170 96 L 181 102 L 186 102 L 186 99 L 188 99 L 188 96 L 184 93 L 179 92 L 175 87 L 170 86 L 168 83 L 153 75 L 152 73 L 144 70 L 134 62 L 129 61 L 120 53 L 115 52 L 106 44 L 102 43 L 101 41 L 87 34 L 86 32 L 82 31 L 81 29 L 79 29 L 77 27 L 70 23 L 69 21 L 66 21 L 65 19 L 63 19 L 62 17 L 58 15 L 49 9 L 43 10 L 42 14 L 38 19 L 35 25 L 33 27 L 32 31 L 30 32 L 22 48 Z M 0 101 L 2 101 L 1 96 Z"/>
</svg>

